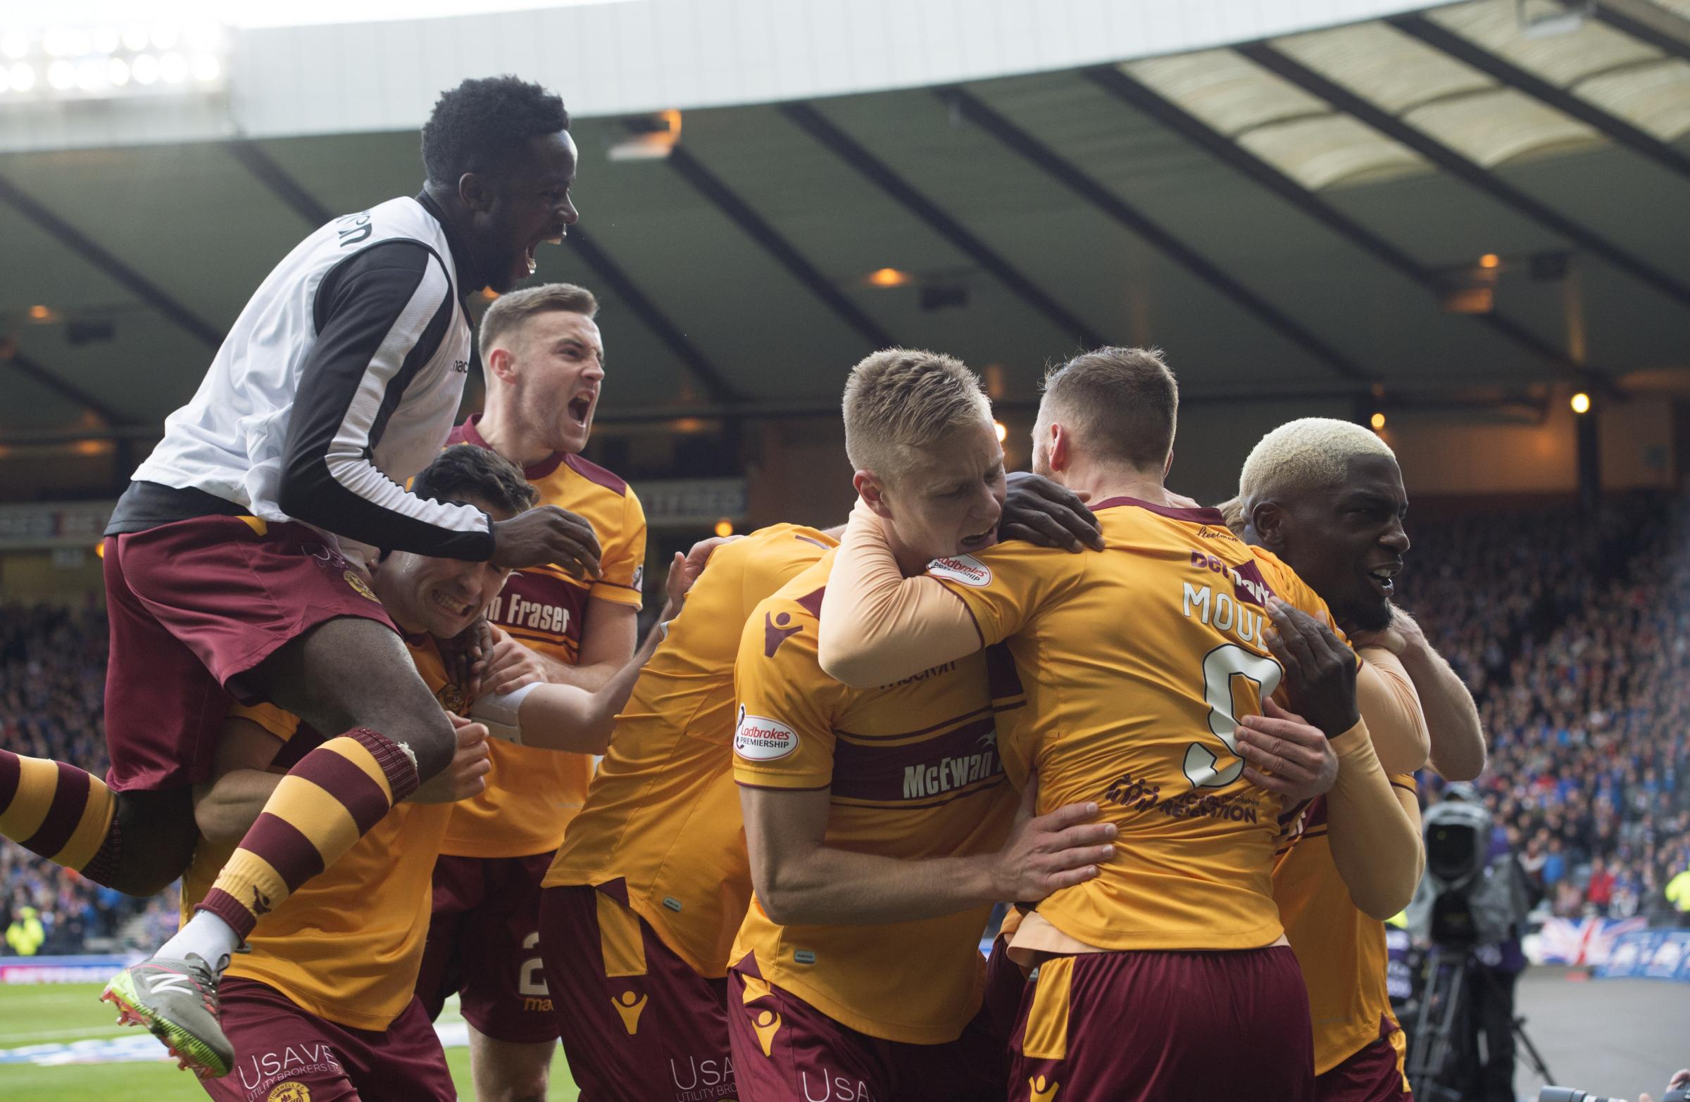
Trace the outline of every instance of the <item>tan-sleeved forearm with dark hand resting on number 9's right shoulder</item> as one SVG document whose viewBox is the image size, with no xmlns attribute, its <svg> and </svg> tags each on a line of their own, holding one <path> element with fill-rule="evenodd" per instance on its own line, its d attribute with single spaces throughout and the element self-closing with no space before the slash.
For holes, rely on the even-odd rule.
<svg viewBox="0 0 1690 1102">
<path fill-rule="evenodd" d="M 1355 703 L 1350 649 L 1330 627 L 1278 598 L 1269 600 L 1268 614 L 1274 622 L 1268 647 L 1284 666 L 1291 703 L 1322 708 L 1323 718 L 1315 725 L 1328 734 L 1338 756 L 1338 777 L 1327 793 L 1332 864 L 1355 906 L 1382 921 L 1408 906 L 1420 884 L 1426 860 L 1420 805 L 1413 793 L 1393 786 L 1379 764 Z M 1347 691 L 1344 669 L 1349 671 Z M 1350 725 L 1333 734 L 1345 718 Z"/>
</svg>

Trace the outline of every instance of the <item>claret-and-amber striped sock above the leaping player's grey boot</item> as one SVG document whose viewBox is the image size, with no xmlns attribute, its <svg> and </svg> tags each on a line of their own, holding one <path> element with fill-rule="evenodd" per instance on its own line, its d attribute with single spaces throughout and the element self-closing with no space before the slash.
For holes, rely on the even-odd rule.
<svg viewBox="0 0 1690 1102">
<path fill-rule="evenodd" d="M 409 747 L 385 735 L 353 727 L 330 739 L 275 786 L 196 911 L 218 916 L 243 940 L 259 918 L 414 793 L 417 779 Z"/>
</svg>

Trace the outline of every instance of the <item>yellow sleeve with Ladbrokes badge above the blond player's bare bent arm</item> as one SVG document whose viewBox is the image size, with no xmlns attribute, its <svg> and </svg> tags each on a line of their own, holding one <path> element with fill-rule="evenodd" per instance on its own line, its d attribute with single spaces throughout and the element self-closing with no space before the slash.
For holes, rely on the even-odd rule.
<svg viewBox="0 0 1690 1102">
<path fill-rule="evenodd" d="M 842 686 L 816 664 L 815 620 L 791 602 L 757 605 L 740 636 L 733 688 L 733 779 L 750 788 L 830 788 L 830 705 Z"/>
</svg>

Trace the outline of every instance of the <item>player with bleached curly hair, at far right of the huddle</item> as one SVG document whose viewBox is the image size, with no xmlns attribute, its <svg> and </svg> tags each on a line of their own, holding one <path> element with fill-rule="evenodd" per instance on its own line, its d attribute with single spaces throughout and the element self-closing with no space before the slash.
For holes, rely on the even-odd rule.
<svg viewBox="0 0 1690 1102">
<path fill-rule="evenodd" d="M 1394 610 L 1393 578 L 1408 553 L 1408 492 L 1389 445 L 1328 417 L 1303 417 L 1262 436 L 1244 461 L 1239 497 L 1227 504 L 1234 531 L 1278 554 L 1325 598 L 1359 654 L 1426 712 L 1433 767 L 1472 779 L 1484 767 L 1484 735 L 1472 695 L 1418 625 Z M 1369 701 L 1360 701 L 1369 713 Z M 1374 747 L 1404 810 L 1420 821 L 1413 772 L 1426 759 L 1415 740 L 1391 744 L 1374 725 Z M 1335 833 L 1337 832 L 1337 833 Z M 1381 919 L 1389 901 L 1350 887 L 1335 860 L 1345 838 L 1327 801 L 1310 803 L 1274 865 L 1274 901 L 1303 967 L 1315 1024 L 1320 1102 L 1398 1102 L 1404 1036 L 1386 990 Z"/>
</svg>

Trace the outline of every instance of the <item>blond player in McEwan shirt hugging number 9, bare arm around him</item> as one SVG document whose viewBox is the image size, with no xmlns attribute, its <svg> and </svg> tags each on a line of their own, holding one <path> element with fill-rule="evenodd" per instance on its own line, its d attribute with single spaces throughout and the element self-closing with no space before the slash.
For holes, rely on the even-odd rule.
<svg viewBox="0 0 1690 1102">
<path fill-rule="evenodd" d="M 870 355 L 843 407 L 857 488 L 887 510 L 901 570 L 995 539 L 1002 451 L 962 363 Z M 985 654 L 869 690 L 823 674 L 830 568 L 759 603 L 735 663 L 755 886 L 728 972 L 739 1099 L 989 1097 L 1004 1082 L 977 948 L 990 906 L 1093 876 L 1114 830 L 1085 823 L 1090 801 L 1017 821 Z"/>
</svg>

